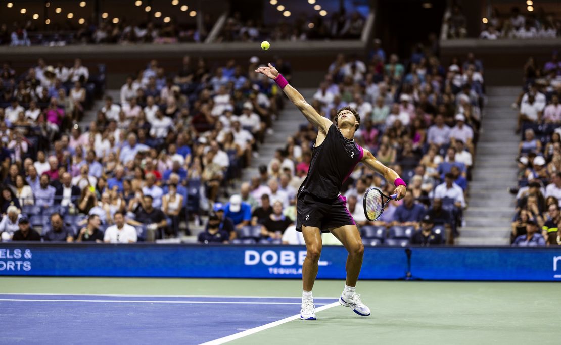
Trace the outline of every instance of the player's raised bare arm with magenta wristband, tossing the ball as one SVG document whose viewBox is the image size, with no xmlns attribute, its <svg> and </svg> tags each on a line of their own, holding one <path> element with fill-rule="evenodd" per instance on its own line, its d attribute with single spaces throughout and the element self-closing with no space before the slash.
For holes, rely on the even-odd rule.
<svg viewBox="0 0 561 345">
<path fill-rule="evenodd" d="M 327 131 L 329 130 L 329 126 L 332 125 L 332 122 L 316 112 L 314 107 L 306 102 L 306 100 L 304 99 L 304 97 L 302 97 L 298 90 L 290 86 L 284 79 L 284 77 L 280 75 L 279 71 L 277 71 L 277 68 L 273 67 L 273 65 L 269 63 L 269 67 L 261 66 L 257 68 L 255 72 L 261 73 L 269 77 L 270 79 L 273 79 L 277 83 L 279 88 L 284 91 L 284 94 L 287 95 L 288 99 L 291 100 L 291 102 L 294 103 L 294 105 L 296 105 L 298 109 L 300 109 L 307 120 L 312 125 L 318 127 L 320 131 L 327 133 Z"/>
</svg>

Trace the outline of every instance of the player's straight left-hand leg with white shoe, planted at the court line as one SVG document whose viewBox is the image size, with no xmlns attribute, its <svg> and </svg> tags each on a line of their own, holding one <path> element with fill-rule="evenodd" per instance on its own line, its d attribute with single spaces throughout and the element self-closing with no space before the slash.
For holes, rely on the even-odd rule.
<svg viewBox="0 0 561 345">
<path fill-rule="evenodd" d="M 302 307 L 300 319 L 315 320 L 312 288 L 318 275 L 318 261 L 321 255 L 321 231 L 316 227 L 302 226 L 302 236 L 306 243 L 306 259 L 302 264 Z"/>
</svg>

